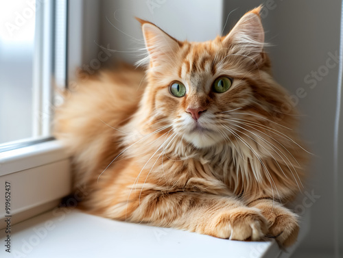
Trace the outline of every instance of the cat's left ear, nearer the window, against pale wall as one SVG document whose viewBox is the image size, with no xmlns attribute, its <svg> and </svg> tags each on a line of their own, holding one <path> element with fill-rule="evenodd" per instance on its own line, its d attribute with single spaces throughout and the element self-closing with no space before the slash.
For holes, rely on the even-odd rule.
<svg viewBox="0 0 343 258">
<path fill-rule="evenodd" d="M 149 53 L 151 64 L 155 66 L 162 62 L 170 62 L 172 55 L 178 51 L 181 43 L 153 23 L 140 18 L 137 20 L 142 25 L 145 47 Z"/>
</svg>

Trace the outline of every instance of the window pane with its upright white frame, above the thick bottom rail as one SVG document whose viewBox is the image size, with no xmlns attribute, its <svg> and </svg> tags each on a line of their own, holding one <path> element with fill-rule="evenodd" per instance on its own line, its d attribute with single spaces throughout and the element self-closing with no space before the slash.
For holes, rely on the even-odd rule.
<svg viewBox="0 0 343 258">
<path fill-rule="evenodd" d="M 5 1 L 0 17 L 1 150 L 51 136 L 54 88 L 66 79 L 67 1 Z"/>
</svg>

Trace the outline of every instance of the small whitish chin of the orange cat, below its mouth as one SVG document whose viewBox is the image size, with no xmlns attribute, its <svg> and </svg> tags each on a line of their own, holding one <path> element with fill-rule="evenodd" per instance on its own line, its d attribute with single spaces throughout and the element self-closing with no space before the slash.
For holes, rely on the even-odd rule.
<svg viewBox="0 0 343 258">
<path fill-rule="evenodd" d="M 183 138 L 187 142 L 191 142 L 191 144 L 198 149 L 209 148 L 223 140 L 222 137 L 218 136 L 216 133 L 202 133 L 199 131 L 185 133 Z"/>
</svg>

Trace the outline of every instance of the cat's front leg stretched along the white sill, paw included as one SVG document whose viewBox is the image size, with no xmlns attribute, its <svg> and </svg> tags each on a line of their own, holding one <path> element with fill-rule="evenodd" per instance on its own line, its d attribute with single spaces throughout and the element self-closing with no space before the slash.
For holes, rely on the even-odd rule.
<svg viewBox="0 0 343 258">
<path fill-rule="evenodd" d="M 143 192 L 126 207 L 132 222 L 147 222 L 230 240 L 260 240 L 268 222 L 235 197 L 200 192 Z"/>
</svg>

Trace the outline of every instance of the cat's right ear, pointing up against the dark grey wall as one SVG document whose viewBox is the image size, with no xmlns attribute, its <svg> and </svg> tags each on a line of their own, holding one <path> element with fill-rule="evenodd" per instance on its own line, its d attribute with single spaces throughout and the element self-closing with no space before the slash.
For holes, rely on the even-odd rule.
<svg viewBox="0 0 343 258">
<path fill-rule="evenodd" d="M 264 30 L 259 15 L 261 8 L 260 5 L 241 17 L 230 33 L 223 38 L 222 42 L 226 47 L 237 46 L 239 52 L 244 52 L 244 55 L 253 59 L 261 56 L 260 53 L 265 46 Z"/>
</svg>

